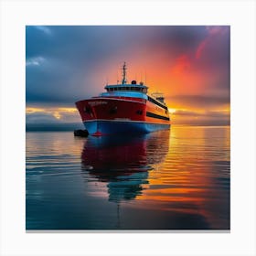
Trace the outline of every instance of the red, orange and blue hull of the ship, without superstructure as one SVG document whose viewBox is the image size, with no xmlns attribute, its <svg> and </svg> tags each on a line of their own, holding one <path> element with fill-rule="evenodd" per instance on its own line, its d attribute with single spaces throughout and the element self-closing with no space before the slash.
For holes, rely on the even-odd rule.
<svg viewBox="0 0 256 256">
<path fill-rule="evenodd" d="M 92 135 L 151 133 L 170 128 L 167 111 L 144 99 L 95 97 L 76 105 L 85 129 Z"/>
</svg>

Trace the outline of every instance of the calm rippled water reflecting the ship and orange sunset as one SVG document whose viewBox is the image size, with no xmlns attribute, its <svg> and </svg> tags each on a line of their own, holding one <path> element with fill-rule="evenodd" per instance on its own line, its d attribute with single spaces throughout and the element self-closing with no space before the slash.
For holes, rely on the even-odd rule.
<svg viewBox="0 0 256 256">
<path fill-rule="evenodd" d="M 27 133 L 27 229 L 229 229 L 229 127 Z"/>
</svg>

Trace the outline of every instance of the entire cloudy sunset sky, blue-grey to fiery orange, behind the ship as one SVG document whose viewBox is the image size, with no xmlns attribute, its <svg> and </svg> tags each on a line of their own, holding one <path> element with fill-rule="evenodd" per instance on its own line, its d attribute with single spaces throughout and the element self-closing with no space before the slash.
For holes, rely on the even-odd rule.
<svg viewBox="0 0 256 256">
<path fill-rule="evenodd" d="M 81 123 L 75 101 L 121 80 L 123 61 L 172 123 L 229 125 L 229 26 L 27 26 L 27 126 Z"/>
</svg>

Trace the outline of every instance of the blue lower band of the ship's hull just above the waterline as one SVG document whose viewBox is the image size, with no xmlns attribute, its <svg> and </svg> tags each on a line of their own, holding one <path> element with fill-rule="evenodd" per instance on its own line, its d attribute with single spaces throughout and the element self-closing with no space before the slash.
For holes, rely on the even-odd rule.
<svg viewBox="0 0 256 256">
<path fill-rule="evenodd" d="M 170 128 L 170 124 L 162 123 L 139 123 L 139 122 L 114 122 L 114 121 L 91 121 L 83 122 L 85 129 L 90 133 L 151 133 Z"/>
</svg>

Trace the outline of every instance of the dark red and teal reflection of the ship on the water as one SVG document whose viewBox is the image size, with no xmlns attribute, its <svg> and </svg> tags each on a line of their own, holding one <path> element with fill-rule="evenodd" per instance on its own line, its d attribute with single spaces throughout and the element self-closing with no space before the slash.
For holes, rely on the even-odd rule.
<svg viewBox="0 0 256 256">
<path fill-rule="evenodd" d="M 143 194 L 152 165 L 165 159 L 168 145 L 168 138 L 157 143 L 152 134 L 89 137 L 83 147 L 81 169 L 107 183 L 110 201 L 131 200 Z"/>
</svg>

